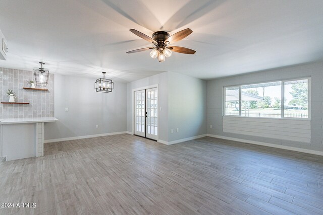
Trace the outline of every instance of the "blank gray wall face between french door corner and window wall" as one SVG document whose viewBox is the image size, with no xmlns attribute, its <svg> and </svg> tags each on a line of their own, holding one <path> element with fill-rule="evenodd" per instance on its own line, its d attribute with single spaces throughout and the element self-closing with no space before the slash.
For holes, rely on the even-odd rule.
<svg viewBox="0 0 323 215">
<path fill-rule="evenodd" d="M 205 134 L 206 81 L 172 72 L 168 80 L 168 141 Z"/>
</svg>

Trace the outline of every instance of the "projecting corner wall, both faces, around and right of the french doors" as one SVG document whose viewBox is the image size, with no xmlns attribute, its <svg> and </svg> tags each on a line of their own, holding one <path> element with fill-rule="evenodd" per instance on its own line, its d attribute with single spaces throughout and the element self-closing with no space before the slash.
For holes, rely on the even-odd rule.
<svg viewBox="0 0 323 215">
<path fill-rule="evenodd" d="M 159 140 L 170 144 L 206 134 L 206 81 L 170 71 L 128 83 L 127 131 L 132 132 L 133 129 L 133 89 L 156 84 L 159 85 L 161 107 Z"/>
</svg>

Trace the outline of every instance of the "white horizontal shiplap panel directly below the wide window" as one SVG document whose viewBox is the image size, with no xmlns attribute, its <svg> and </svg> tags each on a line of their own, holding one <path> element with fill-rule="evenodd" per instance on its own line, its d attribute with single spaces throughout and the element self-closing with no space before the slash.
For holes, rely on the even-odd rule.
<svg viewBox="0 0 323 215">
<path fill-rule="evenodd" d="M 223 132 L 310 142 L 309 120 L 223 117 Z"/>
</svg>

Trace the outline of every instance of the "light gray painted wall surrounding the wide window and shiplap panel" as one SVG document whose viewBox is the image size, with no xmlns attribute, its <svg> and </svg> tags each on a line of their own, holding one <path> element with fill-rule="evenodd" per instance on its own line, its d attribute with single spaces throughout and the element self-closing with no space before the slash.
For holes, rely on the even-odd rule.
<svg viewBox="0 0 323 215">
<path fill-rule="evenodd" d="M 280 140 L 273 138 L 257 137 L 243 134 L 223 132 L 223 87 L 230 85 L 248 84 L 285 80 L 301 77 L 311 77 L 311 142 Z M 323 63 L 310 63 L 290 66 L 280 69 L 250 73 L 242 76 L 228 77 L 207 82 L 207 133 L 252 141 L 266 142 L 301 149 L 323 151 Z M 212 128 L 209 127 L 212 125 Z"/>
</svg>

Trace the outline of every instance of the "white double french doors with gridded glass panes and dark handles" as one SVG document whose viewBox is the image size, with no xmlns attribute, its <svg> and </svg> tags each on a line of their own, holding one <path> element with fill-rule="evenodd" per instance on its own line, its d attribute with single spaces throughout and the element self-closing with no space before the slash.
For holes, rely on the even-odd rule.
<svg viewBox="0 0 323 215">
<path fill-rule="evenodd" d="M 135 135 L 158 138 L 158 90 L 135 91 Z"/>
</svg>

